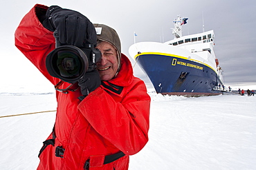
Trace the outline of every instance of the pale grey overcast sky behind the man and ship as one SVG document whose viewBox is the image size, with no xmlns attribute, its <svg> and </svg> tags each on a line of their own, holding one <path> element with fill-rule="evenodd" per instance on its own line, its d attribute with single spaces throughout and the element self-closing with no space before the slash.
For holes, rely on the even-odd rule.
<svg viewBox="0 0 256 170">
<path fill-rule="evenodd" d="M 54 2 L 54 3 L 53 3 Z M 121 39 L 122 52 L 140 41 L 170 41 L 174 19 L 179 14 L 188 17 L 183 36 L 214 30 L 214 52 L 224 70 L 225 85 L 255 85 L 256 87 L 256 1 L 255 0 L 76 0 L 76 1 L 5 1 L 0 11 L 1 84 L 41 84 L 45 78 L 17 50 L 14 32 L 22 17 L 35 5 L 58 5 L 77 10 L 92 23 L 104 23 L 114 28 Z M 144 78 L 136 66 L 135 75 Z M 33 80 L 31 80 L 33 77 Z"/>
</svg>

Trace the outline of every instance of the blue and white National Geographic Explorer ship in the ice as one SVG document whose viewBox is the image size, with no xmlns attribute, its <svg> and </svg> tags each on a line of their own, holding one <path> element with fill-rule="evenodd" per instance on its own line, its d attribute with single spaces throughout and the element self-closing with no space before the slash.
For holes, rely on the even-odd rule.
<svg viewBox="0 0 256 170">
<path fill-rule="evenodd" d="M 157 93 L 182 96 L 221 94 L 222 69 L 214 54 L 214 32 L 182 36 L 187 18 L 174 21 L 174 39 L 165 43 L 140 42 L 129 47 Z"/>
</svg>

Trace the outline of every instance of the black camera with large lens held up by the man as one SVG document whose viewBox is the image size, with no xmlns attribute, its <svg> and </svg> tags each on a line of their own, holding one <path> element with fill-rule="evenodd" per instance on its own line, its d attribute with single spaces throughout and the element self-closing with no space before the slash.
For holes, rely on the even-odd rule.
<svg viewBox="0 0 256 170">
<path fill-rule="evenodd" d="M 51 76 L 76 83 L 86 72 L 96 69 L 96 63 L 102 58 L 100 50 L 91 44 L 84 47 L 61 44 L 56 31 L 53 35 L 56 48 L 46 56 L 46 68 Z"/>
</svg>

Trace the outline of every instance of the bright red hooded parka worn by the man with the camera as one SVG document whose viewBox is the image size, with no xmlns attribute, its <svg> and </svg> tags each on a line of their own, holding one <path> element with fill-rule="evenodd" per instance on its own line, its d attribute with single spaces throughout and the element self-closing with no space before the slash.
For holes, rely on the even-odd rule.
<svg viewBox="0 0 256 170">
<path fill-rule="evenodd" d="M 19 24 L 15 45 L 56 85 L 60 79 L 50 76 L 45 64 L 55 39 L 37 19 L 35 7 Z M 67 86 L 64 83 L 62 87 Z M 82 102 L 78 99 L 81 95 L 80 89 L 68 94 L 56 92 L 55 144 L 42 151 L 37 169 L 82 170 L 86 160 L 90 160 L 90 170 L 128 169 L 129 155 L 138 153 L 148 141 L 150 98 L 145 83 L 133 76 L 131 63 L 122 54 L 118 75 L 104 81 Z M 65 149 L 62 158 L 55 156 L 56 147 Z M 120 151 L 126 156 L 103 164 L 105 156 Z"/>
</svg>

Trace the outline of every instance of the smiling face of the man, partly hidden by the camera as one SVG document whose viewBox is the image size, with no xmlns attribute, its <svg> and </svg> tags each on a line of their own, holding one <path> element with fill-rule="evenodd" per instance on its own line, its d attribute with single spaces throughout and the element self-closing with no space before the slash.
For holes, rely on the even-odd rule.
<svg viewBox="0 0 256 170">
<path fill-rule="evenodd" d="M 96 64 L 102 81 L 111 80 L 118 71 L 118 54 L 110 43 L 102 41 L 97 47 L 102 53 L 102 59 Z"/>
</svg>

